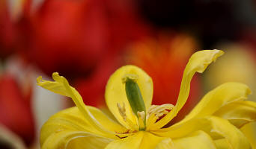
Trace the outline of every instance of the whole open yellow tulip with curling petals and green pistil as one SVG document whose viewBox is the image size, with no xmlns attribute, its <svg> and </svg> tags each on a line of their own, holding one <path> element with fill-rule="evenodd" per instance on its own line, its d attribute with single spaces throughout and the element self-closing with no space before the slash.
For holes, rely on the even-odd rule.
<svg viewBox="0 0 256 149">
<path fill-rule="evenodd" d="M 169 121 L 186 103 L 195 72 L 204 72 L 223 51 L 198 51 L 183 73 L 177 104 L 151 105 L 153 82 L 136 66 L 123 66 L 106 86 L 106 104 L 113 121 L 94 107 L 86 106 L 79 92 L 64 77 L 55 81 L 37 78 L 37 84 L 73 99 L 76 107 L 52 115 L 40 134 L 42 148 L 251 148 L 240 127 L 256 121 L 256 104 L 242 83 L 225 83 L 207 93 L 177 124 Z M 86 99 L 85 99 L 86 100 Z"/>
</svg>

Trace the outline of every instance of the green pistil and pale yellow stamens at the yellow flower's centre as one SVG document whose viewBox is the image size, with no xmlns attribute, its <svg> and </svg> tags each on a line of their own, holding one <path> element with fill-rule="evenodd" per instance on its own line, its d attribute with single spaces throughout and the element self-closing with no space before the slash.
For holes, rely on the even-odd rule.
<svg viewBox="0 0 256 149">
<path fill-rule="evenodd" d="M 163 118 L 168 112 L 170 112 L 174 105 L 172 104 L 162 104 L 159 106 L 151 105 L 146 111 L 144 100 L 141 95 L 141 90 L 139 89 L 138 75 L 127 74 L 122 77 L 122 82 L 125 83 L 125 91 L 127 95 L 127 100 L 129 101 L 129 106 L 132 112 L 138 118 L 136 124 L 132 122 L 126 114 L 125 104 L 118 103 L 118 111 L 124 121 L 128 124 L 131 130 L 149 130 L 149 128 Z M 123 106 L 121 106 L 123 104 Z"/>
</svg>

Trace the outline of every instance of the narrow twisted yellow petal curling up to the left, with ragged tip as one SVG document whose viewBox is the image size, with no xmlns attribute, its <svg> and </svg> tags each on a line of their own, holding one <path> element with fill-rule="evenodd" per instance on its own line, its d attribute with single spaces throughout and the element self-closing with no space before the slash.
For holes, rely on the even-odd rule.
<svg viewBox="0 0 256 149">
<path fill-rule="evenodd" d="M 49 91 L 55 92 L 60 95 L 64 95 L 72 98 L 73 102 L 78 107 L 79 111 L 85 116 L 85 119 L 97 130 L 103 133 L 109 133 L 109 135 L 114 134 L 113 132 L 107 130 L 105 127 L 94 118 L 94 115 L 88 110 L 82 101 L 81 95 L 76 91 L 70 84 L 67 82 L 65 77 L 59 76 L 57 72 L 52 74 L 52 78 L 55 81 L 42 80 L 42 77 L 37 78 L 37 85 L 43 87 L 44 89 L 48 89 Z"/>
</svg>

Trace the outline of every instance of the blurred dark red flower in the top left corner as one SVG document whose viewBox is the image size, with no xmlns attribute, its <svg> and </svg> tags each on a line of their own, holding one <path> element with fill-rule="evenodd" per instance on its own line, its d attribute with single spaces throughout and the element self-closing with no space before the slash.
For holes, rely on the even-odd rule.
<svg viewBox="0 0 256 149">
<path fill-rule="evenodd" d="M 31 0 L 0 1 L 0 57 L 5 58 L 24 45 L 25 19 Z"/>
</svg>

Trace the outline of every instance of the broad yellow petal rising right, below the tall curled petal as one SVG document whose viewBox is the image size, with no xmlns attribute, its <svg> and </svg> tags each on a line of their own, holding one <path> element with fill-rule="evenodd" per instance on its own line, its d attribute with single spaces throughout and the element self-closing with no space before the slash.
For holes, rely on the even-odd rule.
<svg viewBox="0 0 256 149">
<path fill-rule="evenodd" d="M 231 102 L 245 100 L 250 93 L 249 87 L 243 83 L 224 83 L 208 92 L 181 122 L 191 118 L 202 118 L 207 115 L 212 115 L 221 107 Z"/>
</svg>

